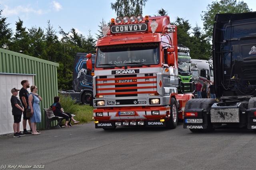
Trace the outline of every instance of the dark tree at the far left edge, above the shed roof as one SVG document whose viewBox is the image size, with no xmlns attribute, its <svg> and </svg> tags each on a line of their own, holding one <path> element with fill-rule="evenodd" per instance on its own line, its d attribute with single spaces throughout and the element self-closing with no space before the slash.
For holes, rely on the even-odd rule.
<svg viewBox="0 0 256 170">
<path fill-rule="evenodd" d="M 2 17 L 2 11 L 0 10 L 0 48 L 8 49 L 10 39 L 12 37 L 12 29 L 8 28 L 10 23 L 6 23 L 6 17 Z"/>
</svg>

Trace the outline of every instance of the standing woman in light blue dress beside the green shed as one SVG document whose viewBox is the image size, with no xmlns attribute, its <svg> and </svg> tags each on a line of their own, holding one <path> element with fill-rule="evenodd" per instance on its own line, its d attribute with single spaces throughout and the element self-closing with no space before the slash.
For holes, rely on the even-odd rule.
<svg viewBox="0 0 256 170">
<path fill-rule="evenodd" d="M 41 123 L 41 109 L 39 102 L 42 101 L 42 98 L 37 94 L 37 90 L 38 88 L 36 86 L 31 86 L 31 93 L 28 95 L 28 105 L 32 113 L 32 117 L 30 117 L 32 135 L 41 134 L 36 132 L 36 123 Z"/>
</svg>

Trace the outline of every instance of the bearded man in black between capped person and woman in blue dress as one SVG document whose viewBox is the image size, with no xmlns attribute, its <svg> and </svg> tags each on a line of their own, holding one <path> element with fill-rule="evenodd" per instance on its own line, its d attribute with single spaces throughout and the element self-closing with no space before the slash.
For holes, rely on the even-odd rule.
<svg viewBox="0 0 256 170">
<path fill-rule="evenodd" d="M 26 117 L 26 109 L 28 108 L 28 90 L 27 90 L 27 88 L 29 88 L 30 86 L 29 86 L 28 80 L 22 80 L 21 85 L 22 85 L 22 88 L 20 89 L 19 96 L 20 96 L 20 101 L 22 103 L 22 106 L 24 107 L 23 121 L 22 121 L 23 134 L 31 134 L 32 132 L 31 131 L 28 132 L 27 129 L 26 129 L 27 120 L 28 120 L 28 124 L 30 126 L 30 129 L 31 129 L 30 117 Z"/>
</svg>

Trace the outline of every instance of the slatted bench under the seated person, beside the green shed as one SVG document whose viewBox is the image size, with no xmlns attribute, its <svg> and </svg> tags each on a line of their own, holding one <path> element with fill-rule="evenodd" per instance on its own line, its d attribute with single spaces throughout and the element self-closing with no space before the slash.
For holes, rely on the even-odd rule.
<svg viewBox="0 0 256 170">
<path fill-rule="evenodd" d="M 72 117 L 76 116 L 74 114 L 71 114 Z M 61 117 L 61 116 L 55 116 L 53 114 L 53 111 L 51 108 L 45 108 L 44 109 L 44 117 L 45 117 L 45 122 L 46 122 L 46 125 L 47 125 L 47 129 L 50 129 L 50 128 L 61 128 L 62 126 L 64 126 L 65 124 L 61 124 L 61 121 L 63 119 L 66 119 L 64 117 Z M 56 122 L 57 121 L 57 122 Z M 71 125 L 71 119 L 69 119 L 69 122 L 68 122 L 68 125 L 72 126 Z"/>
</svg>

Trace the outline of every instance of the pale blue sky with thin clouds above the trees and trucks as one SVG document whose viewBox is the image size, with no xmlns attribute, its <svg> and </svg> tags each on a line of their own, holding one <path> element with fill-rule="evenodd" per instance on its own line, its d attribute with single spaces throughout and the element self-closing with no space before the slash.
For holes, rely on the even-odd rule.
<svg viewBox="0 0 256 170">
<path fill-rule="evenodd" d="M 142 8 L 142 16 L 154 16 L 162 8 L 167 11 L 170 21 L 177 17 L 188 20 L 192 28 L 198 24 L 203 29 L 202 11 L 207 10 L 208 4 L 216 0 L 148 0 Z M 15 23 L 18 18 L 23 21 L 26 28 L 41 27 L 45 30 L 48 21 L 56 32 L 61 27 L 64 32 L 76 29 L 86 38 L 90 34 L 96 39 L 99 34 L 102 19 L 108 23 L 111 18 L 116 18 L 115 11 L 111 9 L 111 3 L 116 0 L 0 0 L 2 17 L 10 23 L 14 33 Z M 168 2 L 168 4 L 167 4 Z M 238 2 L 238 0 L 237 0 Z M 244 0 L 252 11 L 256 11 L 255 0 Z M 57 33 L 58 36 L 60 36 Z"/>
</svg>

